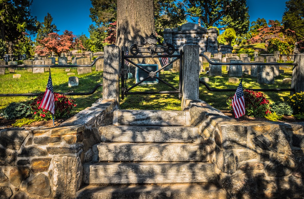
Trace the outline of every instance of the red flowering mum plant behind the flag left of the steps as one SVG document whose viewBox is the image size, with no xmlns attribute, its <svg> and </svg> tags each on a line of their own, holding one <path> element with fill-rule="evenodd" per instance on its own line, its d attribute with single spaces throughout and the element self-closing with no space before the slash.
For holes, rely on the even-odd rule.
<svg viewBox="0 0 304 199">
<path fill-rule="evenodd" d="M 38 97 L 32 100 L 30 106 L 32 109 L 32 114 L 35 120 L 51 120 L 52 113 L 43 108 L 39 108 L 44 94 L 40 94 Z M 76 106 L 74 104 L 75 100 L 70 100 L 69 97 L 61 95 L 59 93 L 54 93 L 55 101 L 55 114 L 54 117 L 68 117 L 71 115 L 72 109 Z"/>
</svg>

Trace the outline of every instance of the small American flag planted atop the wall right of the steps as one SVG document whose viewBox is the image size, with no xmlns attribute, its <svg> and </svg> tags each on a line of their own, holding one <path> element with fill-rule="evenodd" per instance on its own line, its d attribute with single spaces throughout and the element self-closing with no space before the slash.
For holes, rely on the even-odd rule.
<svg viewBox="0 0 304 199">
<path fill-rule="evenodd" d="M 237 87 L 237 92 L 235 92 L 232 100 L 232 108 L 236 118 L 245 115 L 245 100 L 242 81 L 243 79 Z"/>
</svg>

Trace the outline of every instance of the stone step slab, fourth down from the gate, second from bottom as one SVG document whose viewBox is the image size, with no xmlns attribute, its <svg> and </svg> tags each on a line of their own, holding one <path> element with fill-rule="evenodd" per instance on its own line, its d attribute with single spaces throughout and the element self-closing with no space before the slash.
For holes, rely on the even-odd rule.
<svg viewBox="0 0 304 199">
<path fill-rule="evenodd" d="M 216 182 L 214 166 L 204 162 L 110 162 L 83 165 L 85 184 Z"/>
</svg>

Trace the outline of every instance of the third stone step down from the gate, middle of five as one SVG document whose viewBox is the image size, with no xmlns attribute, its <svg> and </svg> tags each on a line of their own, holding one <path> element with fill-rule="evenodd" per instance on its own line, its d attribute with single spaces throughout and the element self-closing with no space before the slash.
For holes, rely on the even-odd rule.
<svg viewBox="0 0 304 199">
<path fill-rule="evenodd" d="M 190 143 L 101 143 L 99 161 L 206 162 L 204 145 Z"/>
</svg>

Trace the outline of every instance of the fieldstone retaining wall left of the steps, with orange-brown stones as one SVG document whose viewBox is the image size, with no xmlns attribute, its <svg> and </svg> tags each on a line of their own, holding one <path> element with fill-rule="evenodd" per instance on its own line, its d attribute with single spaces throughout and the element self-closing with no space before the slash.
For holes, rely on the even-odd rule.
<svg viewBox="0 0 304 199">
<path fill-rule="evenodd" d="M 0 198 L 75 198 L 82 164 L 113 120 L 116 100 L 99 99 L 60 126 L 0 131 Z"/>
</svg>

